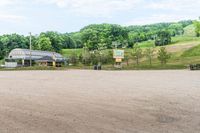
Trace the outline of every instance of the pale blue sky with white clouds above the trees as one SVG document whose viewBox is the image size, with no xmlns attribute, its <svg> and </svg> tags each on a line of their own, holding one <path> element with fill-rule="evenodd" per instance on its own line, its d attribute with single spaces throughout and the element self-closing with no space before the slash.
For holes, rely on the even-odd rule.
<svg viewBox="0 0 200 133">
<path fill-rule="evenodd" d="M 200 0 L 0 0 L 0 34 L 79 31 L 89 24 L 122 26 L 197 19 Z"/>
</svg>

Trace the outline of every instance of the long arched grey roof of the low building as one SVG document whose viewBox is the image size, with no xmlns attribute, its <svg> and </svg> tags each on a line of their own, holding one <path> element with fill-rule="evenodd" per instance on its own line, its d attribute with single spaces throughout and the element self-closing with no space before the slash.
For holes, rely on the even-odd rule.
<svg viewBox="0 0 200 133">
<path fill-rule="evenodd" d="M 31 56 L 30 56 L 31 55 Z M 39 60 L 44 57 L 51 57 L 54 60 L 63 61 L 64 58 L 61 54 L 56 52 L 49 52 L 49 51 L 40 51 L 40 50 L 29 50 L 29 49 L 13 49 L 8 58 L 9 59 L 24 59 L 29 60 Z"/>
</svg>

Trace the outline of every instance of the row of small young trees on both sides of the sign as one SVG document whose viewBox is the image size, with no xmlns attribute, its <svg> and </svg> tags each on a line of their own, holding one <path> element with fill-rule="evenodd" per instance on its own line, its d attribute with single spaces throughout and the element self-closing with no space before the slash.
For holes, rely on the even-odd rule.
<svg viewBox="0 0 200 133">
<path fill-rule="evenodd" d="M 135 61 L 135 64 L 139 66 L 141 60 L 144 58 L 149 61 L 150 66 L 152 66 L 153 59 L 155 58 L 157 58 L 162 65 L 165 65 L 171 58 L 171 55 L 167 52 L 165 47 L 160 47 L 160 49 L 150 47 L 144 50 L 139 47 L 138 44 L 134 45 L 130 50 L 125 50 L 124 61 L 126 62 L 127 66 L 129 66 L 129 60 Z M 88 49 L 84 48 L 80 54 L 77 54 L 77 52 L 73 51 L 68 59 L 68 63 L 74 66 L 80 63 L 86 66 L 115 63 L 112 50 L 89 51 Z"/>
</svg>

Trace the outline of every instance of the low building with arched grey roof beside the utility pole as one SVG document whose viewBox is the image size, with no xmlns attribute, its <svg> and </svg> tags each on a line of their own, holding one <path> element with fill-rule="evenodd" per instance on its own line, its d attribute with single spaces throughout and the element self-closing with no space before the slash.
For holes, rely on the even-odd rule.
<svg viewBox="0 0 200 133">
<path fill-rule="evenodd" d="M 48 51 L 14 49 L 5 60 L 5 67 L 20 67 L 33 65 L 61 67 L 65 59 L 61 54 Z"/>
</svg>

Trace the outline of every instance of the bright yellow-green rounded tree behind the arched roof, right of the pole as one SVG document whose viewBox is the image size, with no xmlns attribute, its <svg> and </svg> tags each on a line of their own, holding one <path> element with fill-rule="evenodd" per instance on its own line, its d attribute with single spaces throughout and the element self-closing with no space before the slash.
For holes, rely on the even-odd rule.
<svg viewBox="0 0 200 133">
<path fill-rule="evenodd" d="M 40 36 L 37 44 L 38 44 L 38 47 L 39 47 L 40 50 L 54 51 L 54 49 L 51 45 L 51 41 L 48 37 Z"/>
</svg>

